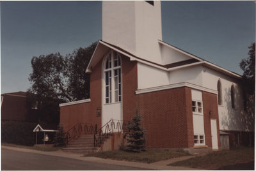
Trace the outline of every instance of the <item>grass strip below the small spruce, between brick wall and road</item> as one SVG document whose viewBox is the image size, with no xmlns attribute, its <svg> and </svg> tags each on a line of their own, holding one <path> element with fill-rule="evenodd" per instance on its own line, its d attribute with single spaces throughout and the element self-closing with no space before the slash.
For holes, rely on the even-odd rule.
<svg viewBox="0 0 256 171">
<path fill-rule="evenodd" d="M 138 161 L 142 163 L 154 163 L 156 161 L 168 160 L 170 158 L 177 158 L 182 156 L 188 156 L 184 152 L 175 152 L 168 150 L 153 150 L 149 149 L 145 152 L 125 152 L 121 150 L 97 152 L 93 154 L 84 154 L 84 156 L 94 156 L 97 158 L 111 158 L 113 160 L 127 160 Z"/>
</svg>

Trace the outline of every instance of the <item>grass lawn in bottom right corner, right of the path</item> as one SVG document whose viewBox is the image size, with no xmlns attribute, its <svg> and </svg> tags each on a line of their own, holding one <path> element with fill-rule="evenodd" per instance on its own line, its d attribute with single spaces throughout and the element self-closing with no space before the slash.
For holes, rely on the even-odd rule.
<svg viewBox="0 0 256 171">
<path fill-rule="evenodd" d="M 249 161 L 254 161 L 254 148 L 239 147 L 230 151 L 212 152 L 205 156 L 197 156 L 195 158 L 179 161 L 170 165 L 212 170 L 228 165 L 248 163 Z"/>
</svg>

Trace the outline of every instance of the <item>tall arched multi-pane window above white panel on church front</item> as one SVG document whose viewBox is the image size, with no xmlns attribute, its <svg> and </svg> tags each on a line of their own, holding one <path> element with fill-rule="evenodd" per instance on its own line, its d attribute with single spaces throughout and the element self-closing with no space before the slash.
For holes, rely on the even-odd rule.
<svg viewBox="0 0 256 171">
<path fill-rule="evenodd" d="M 111 50 L 104 63 L 105 103 L 121 101 L 121 57 Z"/>
</svg>

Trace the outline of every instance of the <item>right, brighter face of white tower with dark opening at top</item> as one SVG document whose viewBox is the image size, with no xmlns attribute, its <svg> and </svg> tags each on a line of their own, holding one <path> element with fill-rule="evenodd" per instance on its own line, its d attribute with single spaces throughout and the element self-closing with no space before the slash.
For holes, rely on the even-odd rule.
<svg viewBox="0 0 256 171">
<path fill-rule="evenodd" d="M 161 2 L 154 6 L 145 1 L 135 3 L 136 56 L 161 63 L 159 43 L 162 40 Z"/>
</svg>

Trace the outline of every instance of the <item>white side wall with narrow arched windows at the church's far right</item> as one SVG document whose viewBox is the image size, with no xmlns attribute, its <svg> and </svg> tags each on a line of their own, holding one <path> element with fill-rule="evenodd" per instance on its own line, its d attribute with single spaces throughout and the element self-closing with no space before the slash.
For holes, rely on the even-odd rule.
<svg viewBox="0 0 256 171">
<path fill-rule="evenodd" d="M 222 105 L 218 105 L 220 130 L 252 131 L 254 118 L 244 112 L 243 87 L 241 83 L 218 71 L 203 67 L 203 86 L 218 90 L 218 80 L 221 81 Z M 231 86 L 234 85 L 235 108 L 231 105 Z"/>
</svg>

